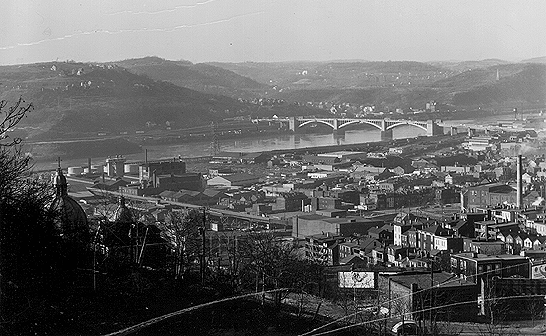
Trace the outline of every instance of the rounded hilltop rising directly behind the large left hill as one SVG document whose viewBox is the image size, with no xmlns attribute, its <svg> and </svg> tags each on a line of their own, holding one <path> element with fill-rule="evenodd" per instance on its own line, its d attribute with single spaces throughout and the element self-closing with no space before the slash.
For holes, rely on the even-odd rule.
<svg viewBox="0 0 546 336">
<path fill-rule="evenodd" d="M 209 64 L 144 57 L 115 62 L 133 73 L 192 90 L 234 98 L 254 98 L 269 88 L 250 78 Z"/>
</svg>

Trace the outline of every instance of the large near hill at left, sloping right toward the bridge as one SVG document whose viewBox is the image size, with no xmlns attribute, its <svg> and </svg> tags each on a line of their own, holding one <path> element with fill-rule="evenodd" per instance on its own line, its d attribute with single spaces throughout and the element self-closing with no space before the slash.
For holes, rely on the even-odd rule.
<svg viewBox="0 0 546 336">
<path fill-rule="evenodd" d="M 28 136 L 186 128 L 247 112 L 234 99 L 129 72 L 115 64 L 47 62 L 0 67 L 0 99 L 23 96 L 36 108 Z"/>
</svg>

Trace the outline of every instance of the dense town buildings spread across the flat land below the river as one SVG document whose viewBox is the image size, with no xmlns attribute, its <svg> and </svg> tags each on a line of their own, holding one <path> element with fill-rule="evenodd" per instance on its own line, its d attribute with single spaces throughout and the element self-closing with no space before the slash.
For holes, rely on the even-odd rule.
<svg viewBox="0 0 546 336">
<path fill-rule="evenodd" d="M 437 317 L 469 321 L 487 314 L 463 303 L 485 296 L 484 281 L 527 286 L 532 265 L 546 263 L 546 160 L 502 157 L 495 136 L 473 141 L 411 157 L 404 156 L 412 148 L 398 145 L 373 154 L 270 155 L 261 163 L 233 155 L 204 173 L 188 172 L 183 162 L 148 163 L 138 179 L 102 183 L 154 202 L 148 210 L 132 206 L 156 222 L 171 209 L 207 207 L 218 235 L 268 230 L 321 267 L 391 270 L 376 272 L 374 290 L 410 298 L 408 317 L 430 318 L 418 311 L 460 299 L 460 309 Z"/>
</svg>

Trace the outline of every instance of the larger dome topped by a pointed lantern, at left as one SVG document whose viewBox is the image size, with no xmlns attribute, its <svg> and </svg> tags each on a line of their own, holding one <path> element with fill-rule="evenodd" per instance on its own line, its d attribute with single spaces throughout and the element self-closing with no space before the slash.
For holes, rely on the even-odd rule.
<svg viewBox="0 0 546 336">
<path fill-rule="evenodd" d="M 57 168 L 53 177 L 56 197 L 51 209 L 57 214 L 56 226 L 63 239 L 87 244 L 89 242 L 89 224 L 81 205 L 68 196 L 68 184 L 62 169 Z"/>
</svg>

